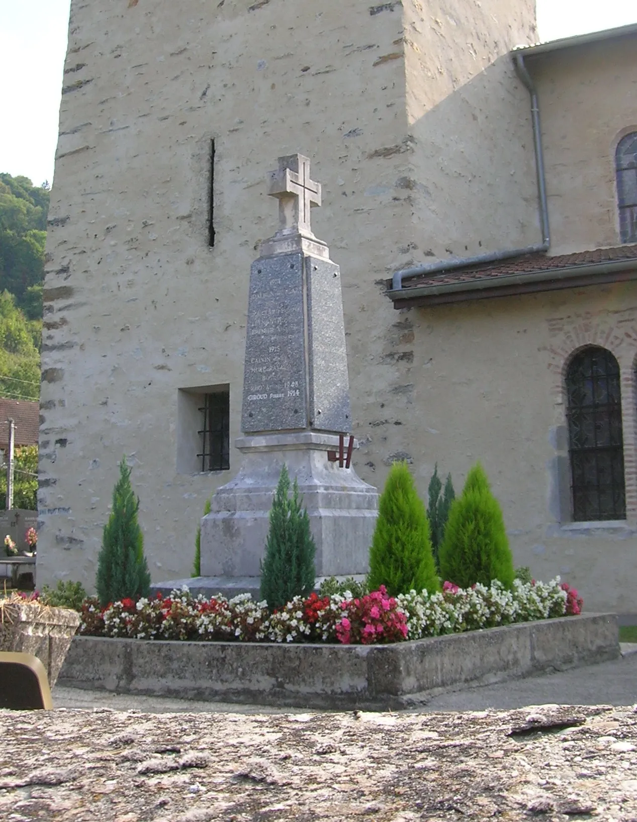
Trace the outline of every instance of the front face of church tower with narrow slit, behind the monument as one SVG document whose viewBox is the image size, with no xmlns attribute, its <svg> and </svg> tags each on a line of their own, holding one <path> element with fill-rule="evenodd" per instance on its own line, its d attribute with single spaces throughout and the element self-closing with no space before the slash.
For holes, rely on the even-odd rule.
<svg viewBox="0 0 637 822">
<path fill-rule="evenodd" d="M 229 384 L 238 436 L 249 270 L 277 226 L 265 175 L 279 155 L 312 156 L 314 228 L 350 314 L 362 292 L 393 318 L 374 280 L 409 233 L 409 192 L 379 203 L 373 188 L 406 173 L 383 153 L 405 132 L 403 61 L 381 59 L 401 36 L 399 13 L 353 0 L 72 3 L 44 294 L 42 582 L 93 584 L 122 454 L 154 578 L 187 574 L 229 473 L 177 472 L 178 389 Z"/>
</svg>

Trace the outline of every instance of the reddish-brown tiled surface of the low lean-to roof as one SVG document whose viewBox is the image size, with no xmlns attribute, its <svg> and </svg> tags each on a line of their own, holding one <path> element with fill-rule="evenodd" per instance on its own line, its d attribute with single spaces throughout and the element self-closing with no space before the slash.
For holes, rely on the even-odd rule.
<svg viewBox="0 0 637 822">
<path fill-rule="evenodd" d="M 482 266 L 467 266 L 449 271 L 418 275 L 406 279 L 403 284 L 405 291 L 427 285 L 442 283 L 462 283 L 476 279 L 493 279 L 513 274 L 533 274 L 538 271 L 554 271 L 577 266 L 590 266 L 595 263 L 613 262 L 617 260 L 635 260 L 637 264 L 637 245 L 617 246 L 613 248 L 595 248 L 593 251 L 575 252 L 574 254 L 559 254 L 547 256 L 546 253 L 525 254 L 511 257 L 496 263 L 487 263 Z"/>
</svg>

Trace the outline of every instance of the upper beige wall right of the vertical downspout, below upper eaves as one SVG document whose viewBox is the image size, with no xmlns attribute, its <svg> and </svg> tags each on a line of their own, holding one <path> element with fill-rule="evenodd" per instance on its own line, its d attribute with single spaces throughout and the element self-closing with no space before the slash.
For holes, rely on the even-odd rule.
<svg viewBox="0 0 637 822">
<path fill-rule="evenodd" d="M 637 131 L 635 37 L 538 55 L 552 254 L 620 244 L 615 150 Z"/>
</svg>

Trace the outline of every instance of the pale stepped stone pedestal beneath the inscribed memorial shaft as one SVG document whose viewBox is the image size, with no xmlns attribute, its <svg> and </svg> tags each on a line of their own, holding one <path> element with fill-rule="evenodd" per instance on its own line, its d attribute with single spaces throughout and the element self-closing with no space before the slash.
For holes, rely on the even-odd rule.
<svg viewBox="0 0 637 822">
<path fill-rule="evenodd" d="M 212 510 L 201 520 L 202 576 L 215 577 L 220 590 L 233 589 L 237 578 L 253 577 L 258 583 L 270 508 L 284 464 L 290 480 L 298 482 L 310 518 L 316 576 L 367 572 L 378 492 L 353 468 L 340 468 L 327 459 L 328 450 L 338 451 L 338 436 L 286 432 L 244 436 L 235 444 L 244 455 L 242 469 L 215 492 Z"/>
</svg>

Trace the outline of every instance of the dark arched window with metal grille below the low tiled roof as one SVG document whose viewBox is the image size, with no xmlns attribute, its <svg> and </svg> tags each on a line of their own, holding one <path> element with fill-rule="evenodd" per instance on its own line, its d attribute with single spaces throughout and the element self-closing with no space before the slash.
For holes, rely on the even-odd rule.
<svg viewBox="0 0 637 822">
<path fill-rule="evenodd" d="M 620 371 L 610 351 L 590 346 L 566 374 L 573 520 L 624 520 Z"/>
</svg>

